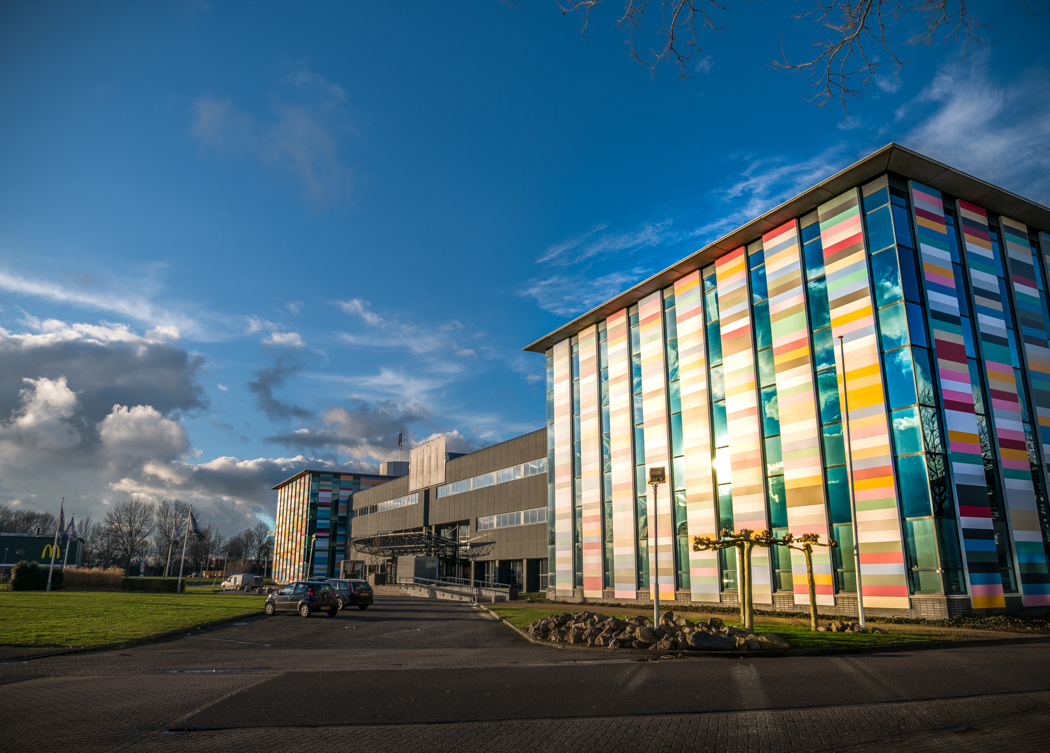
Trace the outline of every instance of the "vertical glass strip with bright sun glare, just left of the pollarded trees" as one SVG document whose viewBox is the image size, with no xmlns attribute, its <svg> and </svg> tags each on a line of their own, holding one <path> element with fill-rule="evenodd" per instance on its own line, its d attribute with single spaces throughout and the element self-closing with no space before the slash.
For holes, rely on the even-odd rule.
<svg viewBox="0 0 1050 753">
<path fill-rule="evenodd" d="M 707 325 L 708 393 L 711 400 L 712 466 L 717 489 L 718 530 L 733 530 L 733 477 L 729 461 L 729 426 L 726 419 L 726 379 L 722 373 L 721 328 L 718 311 L 718 281 L 715 267 L 705 267 L 704 321 Z M 722 590 L 737 589 L 736 550 L 719 550 L 718 565 L 721 571 Z"/>
</svg>

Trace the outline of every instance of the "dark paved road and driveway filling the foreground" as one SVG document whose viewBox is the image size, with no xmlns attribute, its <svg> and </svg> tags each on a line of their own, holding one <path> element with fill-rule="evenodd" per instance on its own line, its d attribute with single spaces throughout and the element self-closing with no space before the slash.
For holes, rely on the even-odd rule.
<svg viewBox="0 0 1050 753">
<path fill-rule="evenodd" d="M 1050 640 L 639 662 L 528 643 L 468 605 L 248 619 L 0 664 L 0 750 L 1050 748 Z"/>
</svg>

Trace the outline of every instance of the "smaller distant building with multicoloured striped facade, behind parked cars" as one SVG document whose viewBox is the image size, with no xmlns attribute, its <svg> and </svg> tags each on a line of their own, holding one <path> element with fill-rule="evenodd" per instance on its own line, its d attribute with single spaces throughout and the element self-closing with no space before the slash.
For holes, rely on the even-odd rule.
<svg viewBox="0 0 1050 753">
<path fill-rule="evenodd" d="M 307 470 L 274 487 L 277 491 L 274 580 L 287 583 L 314 575 L 337 577 L 350 536 L 346 513 L 352 495 L 392 478 L 395 476 Z M 313 560 L 308 561 L 312 543 Z"/>
</svg>

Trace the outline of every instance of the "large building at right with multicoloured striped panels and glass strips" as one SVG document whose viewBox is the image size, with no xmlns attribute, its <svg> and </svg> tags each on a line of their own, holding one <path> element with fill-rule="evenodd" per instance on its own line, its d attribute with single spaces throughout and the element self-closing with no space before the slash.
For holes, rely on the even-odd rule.
<svg viewBox="0 0 1050 753">
<path fill-rule="evenodd" d="M 856 530 L 866 609 L 1050 605 L 1048 231 L 891 144 L 528 346 L 554 595 L 735 603 L 691 537 L 769 529 L 841 542 L 817 598 L 856 610 Z M 807 604 L 793 554 L 756 603 Z"/>
</svg>

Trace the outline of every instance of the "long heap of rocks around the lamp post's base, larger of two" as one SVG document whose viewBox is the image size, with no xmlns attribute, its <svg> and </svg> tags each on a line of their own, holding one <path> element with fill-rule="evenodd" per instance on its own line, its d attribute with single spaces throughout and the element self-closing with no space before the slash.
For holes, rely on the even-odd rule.
<svg viewBox="0 0 1050 753">
<path fill-rule="evenodd" d="M 791 648 L 786 641 L 770 632 L 756 636 L 726 625 L 717 617 L 694 622 L 673 611 L 660 615 L 659 625 L 653 625 L 644 617 L 617 620 L 591 611 L 565 611 L 537 620 L 525 631 L 538 641 L 654 651 L 783 651 Z"/>
</svg>

